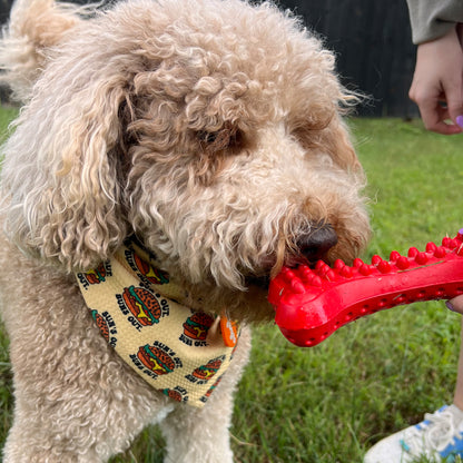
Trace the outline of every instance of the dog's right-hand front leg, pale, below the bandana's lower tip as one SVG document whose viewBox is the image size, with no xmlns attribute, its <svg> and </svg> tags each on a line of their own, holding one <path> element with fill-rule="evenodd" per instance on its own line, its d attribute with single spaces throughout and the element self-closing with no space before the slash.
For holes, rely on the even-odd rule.
<svg viewBox="0 0 463 463">
<path fill-rule="evenodd" d="M 165 463 L 232 463 L 228 428 L 232 421 L 234 391 L 250 351 L 250 331 L 243 329 L 229 370 L 204 408 L 177 405 L 161 423 L 167 442 Z"/>
</svg>

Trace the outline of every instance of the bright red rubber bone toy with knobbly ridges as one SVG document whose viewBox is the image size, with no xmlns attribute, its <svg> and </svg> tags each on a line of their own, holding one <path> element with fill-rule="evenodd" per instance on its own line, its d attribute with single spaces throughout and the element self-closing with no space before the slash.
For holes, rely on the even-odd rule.
<svg viewBox="0 0 463 463">
<path fill-rule="evenodd" d="M 442 246 L 425 252 L 396 250 L 390 260 L 374 256 L 348 267 L 343 260 L 329 267 L 319 260 L 308 266 L 284 267 L 270 282 L 268 301 L 275 322 L 297 346 L 314 346 L 337 328 L 365 315 L 418 301 L 451 299 L 463 294 L 463 228 Z"/>
</svg>

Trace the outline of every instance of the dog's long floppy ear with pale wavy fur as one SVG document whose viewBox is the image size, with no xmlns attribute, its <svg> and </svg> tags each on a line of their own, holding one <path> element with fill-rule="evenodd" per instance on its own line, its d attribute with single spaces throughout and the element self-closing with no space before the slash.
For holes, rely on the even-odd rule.
<svg viewBox="0 0 463 463">
<path fill-rule="evenodd" d="M 4 227 L 28 254 L 81 270 L 126 236 L 119 114 L 128 96 L 110 76 L 63 82 L 47 72 L 3 148 Z"/>
</svg>

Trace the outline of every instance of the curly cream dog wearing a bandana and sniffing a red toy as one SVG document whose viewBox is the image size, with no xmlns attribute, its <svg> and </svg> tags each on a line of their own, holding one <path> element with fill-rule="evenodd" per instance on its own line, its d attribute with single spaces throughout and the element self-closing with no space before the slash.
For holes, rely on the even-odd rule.
<svg viewBox="0 0 463 463">
<path fill-rule="evenodd" d="M 102 462 L 162 421 L 167 462 L 233 461 L 245 325 L 282 265 L 352 259 L 370 229 L 334 57 L 239 0 L 19 0 L 0 60 L 24 107 L 3 147 L 0 292 L 14 375 L 4 462 Z M 242 335 L 204 407 L 152 388 L 92 319 L 76 272 L 135 235 L 194 312 Z"/>
</svg>

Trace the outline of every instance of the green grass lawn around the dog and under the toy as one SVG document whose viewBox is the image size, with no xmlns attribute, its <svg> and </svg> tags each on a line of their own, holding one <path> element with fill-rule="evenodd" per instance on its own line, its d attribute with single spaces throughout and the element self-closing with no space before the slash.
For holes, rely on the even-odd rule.
<svg viewBox="0 0 463 463">
<path fill-rule="evenodd" d="M 366 258 L 423 248 L 463 226 L 461 137 L 426 132 L 417 121 L 351 126 L 372 198 Z M 459 344 L 460 316 L 443 303 L 375 314 L 308 349 L 275 326 L 255 329 L 232 428 L 236 462 L 362 462 L 375 442 L 452 401 Z M 0 336 L 0 446 L 12 401 L 6 345 Z M 112 463 L 160 462 L 161 444 L 148 428 Z"/>
</svg>

